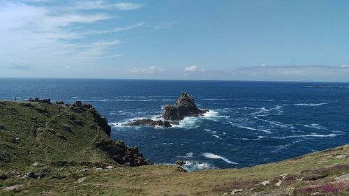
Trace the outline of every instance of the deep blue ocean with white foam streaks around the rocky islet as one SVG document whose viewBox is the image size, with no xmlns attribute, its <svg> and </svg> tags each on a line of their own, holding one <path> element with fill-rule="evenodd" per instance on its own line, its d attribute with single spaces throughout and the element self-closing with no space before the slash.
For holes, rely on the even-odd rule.
<svg viewBox="0 0 349 196">
<path fill-rule="evenodd" d="M 182 91 L 209 113 L 172 128 L 123 127 L 155 118 Z M 82 100 L 154 163 L 186 169 L 246 167 L 348 144 L 349 84 L 0 78 L 0 99 Z"/>
</svg>

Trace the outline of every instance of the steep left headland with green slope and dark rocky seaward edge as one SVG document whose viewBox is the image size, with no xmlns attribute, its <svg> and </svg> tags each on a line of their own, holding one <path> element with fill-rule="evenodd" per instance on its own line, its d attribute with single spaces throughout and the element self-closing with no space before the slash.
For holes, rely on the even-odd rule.
<svg viewBox="0 0 349 196">
<path fill-rule="evenodd" d="M 0 101 L 0 116 L 1 168 L 152 164 L 137 146 L 112 141 L 107 120 L 87 103 Z"/>
</svg>

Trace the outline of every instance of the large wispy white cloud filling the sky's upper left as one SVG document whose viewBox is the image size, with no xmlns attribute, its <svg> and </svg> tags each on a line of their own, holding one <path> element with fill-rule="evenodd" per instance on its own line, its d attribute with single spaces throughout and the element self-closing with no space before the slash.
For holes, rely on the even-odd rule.
<svg viewBox="0 0 349 196">
<path fill-rule="evenodd" d="M 96 3 L 101 5 L 103 1 Z M 31 67 L 43 68 L 45 65 L 77 66 L 109 56 L 107 48 L 121 43 L 120 40 L 80 41 L 86 35 L 70 27 L 85 24 L 88 29 L 91 23 L 111 18 L 101 13 L 57 12 L 54 7 L 41 4 L 0 1 L 0 51 L 4 51 L 0 59 L 10 62 L 10 57 L 16 56 L 17 61 L 26 59 Z M 18 63 L 8 64 L 11 68 L 24 68 Z"/>
</svg>

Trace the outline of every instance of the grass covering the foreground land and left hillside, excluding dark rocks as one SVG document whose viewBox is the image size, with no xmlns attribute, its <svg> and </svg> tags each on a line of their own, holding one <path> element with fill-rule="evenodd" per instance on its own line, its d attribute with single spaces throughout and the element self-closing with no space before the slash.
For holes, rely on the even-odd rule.
<svg viewBox="0 0 349 196">
<path fill-rule="evenodd" d="M 16 112 L 11 113 L 12 107 Z M 49 112 L 54 114 L 58 109 L 53 105 Z M 235 195 L 311 195 L 317 192 L 318 195 L 349 195 L 349 181 L 334 179 L 349 173 L 347 158 L 349 146 L 312 153 L 279 163 L 200 172 L 184 172 L 175 165 L 117 167 L 101 171 L 95 171 L 93 165 L 69 165 L 64 169 L 59 169 L 61 167 L 55 165 L 32 167 L 31 163 L 34 159 L 39 163 L 47 163 L 47 159 L 101 163 L 111 160 L 99 156 L 95 149 L 81 149 L 81 146 L 84 146 L 82 143 L 66 144 L 57 137 L 57 134 L 64 134 L 67 138 L 76 137 L 80 142 L 91 142 L 101 140 L 99 137 L 105 137 L 103 134 L 87 133 L 91 125 L 86 116 L 81 118 L 84 123 L 87 123 L 86 126 L 71 125 L 74 133 L 66 133 L 66 130 L 60 128 L 61 123 L 69 123 L 62 120 L 66 118 L 51 119 L 52 117 L 35 113 L 37 119 L 34 121 L 28 116 L 33 116 L 35 111 L 22 107 L 18 103 L 6 102 L 6 105 L 0 103 L 0 112 L 3 111 L 6 111 L 6 114 L 0 113 L 0 125 L 5 126 L 6 129 L 15 128 L 15 132 L 0 133 L 0 152 L 6 151 L 13 156 L 10 164 L 0 162 L 3 172 L 9 176 L 8 172 L 11 170 L 28 172 L 43 167 L 50 167 L 51 172 L 43 179 L 12 176 L 6 180 L 0 180 L 0 187 L 3 188 L 22 185 L 17 190 L 8 191 L 1 188 L 0 195 L 223 195 L 225 193 L 230 195 L 230 192 L 235 189 L 243 189 Z M 47 119 L 50 120 L 47 121 Z M 29 130 L 37 128 L 36 123 L 41 120 L 52 123 L 49 127 L 54 127 L 57 133 L 53 134 L 52 131 L 45 130 L 37 133 L 36 137 L 30 135 Z M 44 124 L 43 128 L 45 129 Z M 8 142 L 13 137 L 20 137 L 19 144 Z M 90 137 L 98 138 L 84 140 Z M 76 153 L 77 149 L 83 153 Z M 29 154 L 28 151 L 34 151 L 34 153 Z M 343 156 L 339 158 L 338 155 Z M 83 168 L 89 171 L 82 172 Z M 288 175 L 283 178 L 280 176 L 282 174 Z M 87 179 L 77 183 L 81 177 L 87 177 Z M 260 184 L 263 181 L 269 181 L 269 184 L 265 186 Z M 276 186 L 280 181 L 281 185 Z"/>
</svg>

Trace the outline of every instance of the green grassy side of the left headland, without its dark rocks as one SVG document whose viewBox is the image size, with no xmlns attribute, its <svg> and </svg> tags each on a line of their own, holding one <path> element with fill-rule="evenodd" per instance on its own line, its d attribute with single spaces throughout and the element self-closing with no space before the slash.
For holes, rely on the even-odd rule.
<svg viewBox="0 0 349 196">
<path fill-rule="evenodd" d="M 77 114 L 65 107 L 62 110 L 67 112 L 59 112 L 60 105 L 30 103 L 31 107 L 25 107 L 22 104 L 0 103 L 0 125 L 6 128 L 6 131 L 1 131 L 0 153 L 10 158 L 10 164 L 0 162 L 1 169 L 23 171 L 30 169 L 34 162 L 60 160 L 112 163 L 101 155 L 101 151 L 91 147 L 102 140 L 109 140 L 91 115 Z M 70 121 L 72 118 L 84 124 L 74 125 Z"/>
</svg>

